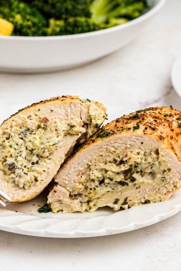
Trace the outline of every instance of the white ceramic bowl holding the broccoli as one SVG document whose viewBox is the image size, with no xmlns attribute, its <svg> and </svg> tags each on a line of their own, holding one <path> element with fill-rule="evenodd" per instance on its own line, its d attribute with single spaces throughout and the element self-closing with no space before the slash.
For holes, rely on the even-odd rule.
<svg viewBox="0 0 181 271">
<path fill-rule="evenodd" d="M 108 55 L 132 41 L 166 0 L 148 0 L 141 17 L 113 28 L 68 36 L 0 36 L 0 71 L 46 72 L 76 67 Z"/>
</svg>

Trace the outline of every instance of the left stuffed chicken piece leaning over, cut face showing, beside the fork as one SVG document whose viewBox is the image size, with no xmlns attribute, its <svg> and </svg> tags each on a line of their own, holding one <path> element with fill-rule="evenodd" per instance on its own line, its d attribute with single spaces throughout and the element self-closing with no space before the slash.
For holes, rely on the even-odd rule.
<svg viewBox="0 0 181 271">
<path fill-rule="evenodd" d="M 0 126 L 0 189 L 11 201 L 27 201 L 49 184 L 77 141 L 106 118 L 105 107 L 78 96 L 33 104 Z"/>
</svg>

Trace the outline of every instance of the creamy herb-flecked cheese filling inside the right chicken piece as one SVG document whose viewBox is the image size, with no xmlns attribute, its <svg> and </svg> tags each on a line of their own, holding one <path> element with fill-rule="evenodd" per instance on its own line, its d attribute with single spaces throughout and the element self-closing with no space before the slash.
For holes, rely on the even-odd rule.
<svg viewBox="0 0 181 271">
<path fill-rule="evenodd" d="M 167 184 L 171 168 L 159 154 L 159 149 L 149 152 L 130 149 L 120 153 L 112 147 L 106 155 L 95 156 L 81 171 L 73 198 L 79 199 L 81 204 L 87 203 L 86 210 L 92 212 L 97 209 L 97 201 L 108 191 L 120 194 L 124 190 L 140 189 L 144 184 L 151 185 L 153 189 Z M 115 210 L 119 209 L 118 202 L 119 199 L 115 198 Z M 127 202 L 119 205 L 128 207 Z"/>
</svg>

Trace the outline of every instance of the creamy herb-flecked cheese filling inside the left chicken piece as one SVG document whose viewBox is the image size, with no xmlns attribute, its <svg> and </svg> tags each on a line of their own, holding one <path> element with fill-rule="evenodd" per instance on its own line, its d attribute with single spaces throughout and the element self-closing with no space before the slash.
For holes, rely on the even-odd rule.
<svg viewBox="0 0 181 271">
<path fill-rule="evenodd" d="M 78 122 L 78 120 L 77 120 Z M 20 188 L 30 188 L 33 183 L 43 181 L 50 169 L 52 154 L 61 147 L 67 135 L 81 135 L 82 123 L 69 119 L 49 121 L 36 114 L 22 120 L 22 126 L 11 126 L 0 134 L 0 170 L 5 181 Z M 44 167 L 40 164 L 45 163 Z"/>
</svg>

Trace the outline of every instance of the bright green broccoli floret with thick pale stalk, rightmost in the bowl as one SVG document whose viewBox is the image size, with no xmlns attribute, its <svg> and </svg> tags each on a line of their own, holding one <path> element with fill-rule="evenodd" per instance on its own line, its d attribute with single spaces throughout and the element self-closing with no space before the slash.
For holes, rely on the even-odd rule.
<svg viewBox="0 0 181 271">
<path fill-rule="evenodd" d="M 104 24 L 110 18 L 137 18 L 145 7 L 145 1 L 140 0 L 94 0 L 90 4 L 90 11 L 91 18 L 97 24 Z"/>
</svg>

